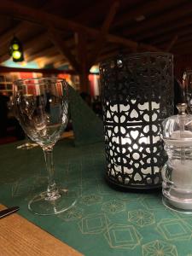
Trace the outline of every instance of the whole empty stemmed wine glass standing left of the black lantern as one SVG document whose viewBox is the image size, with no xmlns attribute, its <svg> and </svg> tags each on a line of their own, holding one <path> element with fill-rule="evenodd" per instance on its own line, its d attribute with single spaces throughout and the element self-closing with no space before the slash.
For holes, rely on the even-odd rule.
<svg viewBox="0 0 192 256">
<path fill-rule="evenodd" d="M 64 79 L 19 79 L 14 83 L 15 115 L 26 135 L 44 150 L 48 188 L 35 195 L 28 208 L 39 215 L 64 212 L 75 201 L 54 179 L 53 147 L 67 125 L 68 89 Z"/>
</svg>

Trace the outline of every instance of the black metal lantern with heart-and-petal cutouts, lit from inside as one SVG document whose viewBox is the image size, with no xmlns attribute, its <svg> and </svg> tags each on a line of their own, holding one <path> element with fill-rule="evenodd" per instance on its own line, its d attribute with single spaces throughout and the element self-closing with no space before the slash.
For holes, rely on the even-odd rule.
<svg viewBox="0 0 192 256">
<path fill-rule="evenodd" d="M 107 180 L 123 189 L 156 189 L 166 161 L 160 138 L 173 113 L 172 55 L 119 55 L 100 65 Z"/>
</svg>

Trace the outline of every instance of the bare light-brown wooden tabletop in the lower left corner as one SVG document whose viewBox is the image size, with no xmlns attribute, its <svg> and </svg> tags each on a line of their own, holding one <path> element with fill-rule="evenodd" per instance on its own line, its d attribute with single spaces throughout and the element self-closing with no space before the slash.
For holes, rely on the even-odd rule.
<svg viewBox="0 0 192 256">
<path fill-rule="evenodd" d="M 4 208 L 0 205 L 0 209 Z M 83 255 L 17 213 L 2 218 L 0 227 L 0 254 L 3 256 Z"/>
</svg>

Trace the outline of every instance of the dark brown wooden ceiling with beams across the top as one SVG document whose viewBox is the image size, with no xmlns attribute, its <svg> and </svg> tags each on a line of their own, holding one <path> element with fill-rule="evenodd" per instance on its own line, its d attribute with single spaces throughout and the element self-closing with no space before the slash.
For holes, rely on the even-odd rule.
<svg viewBox="0 0 192 256">
<path fill-rule="evenodd" d="M 119 51 L 190 55 L 191 25 L 191 0 L 2 0 L 0 65 L 14 34 L 42 68 L 80 72 Z"/>
</svg>

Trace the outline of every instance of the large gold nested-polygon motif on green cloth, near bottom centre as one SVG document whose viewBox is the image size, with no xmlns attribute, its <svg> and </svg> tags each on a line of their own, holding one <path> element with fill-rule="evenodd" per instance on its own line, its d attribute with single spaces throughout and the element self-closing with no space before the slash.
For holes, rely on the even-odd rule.
<svg viewBox="0 0 192 256">
<path fill-rule="evenodd" d="M 134 226 L 112 224 L 104 234 L 110 247 L 133 250 L 140 244 L 142 236 Z"/>
</svg>

